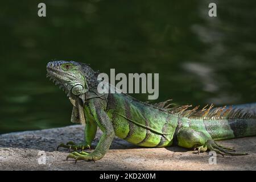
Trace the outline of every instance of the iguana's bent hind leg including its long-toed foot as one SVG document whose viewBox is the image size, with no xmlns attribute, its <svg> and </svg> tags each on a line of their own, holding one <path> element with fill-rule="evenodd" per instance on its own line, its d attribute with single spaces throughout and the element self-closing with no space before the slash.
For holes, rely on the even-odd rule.
<svg viewBox="0 0 256 182">
<path fill-rule="evenodd" d="M 193 129 L 181 129 L 177 134 L 177 144 L 184 148 L 194 148 L 200 151 L 215 151 L 221 155 L 247 155 L 246 153 L 234 152 L 232 148 L 221 146 L 204 133 Z"/>
</svg>

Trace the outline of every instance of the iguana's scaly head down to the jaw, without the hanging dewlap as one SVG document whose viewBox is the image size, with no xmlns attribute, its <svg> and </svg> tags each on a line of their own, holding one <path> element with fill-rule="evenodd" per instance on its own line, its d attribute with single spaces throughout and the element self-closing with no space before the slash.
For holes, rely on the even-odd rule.
<svg viewBox="0 0 256 182">
<path fill-rule="evenodd" d="M 75 61 L 51 61 L 47 64 L 47 72 L 50 79 L 63 88 L 68 96 L 81 96 L 88 92 L 87 82 L 92 80 L 89 77 L 94 76 L 88 65 Z"/>
</svg>

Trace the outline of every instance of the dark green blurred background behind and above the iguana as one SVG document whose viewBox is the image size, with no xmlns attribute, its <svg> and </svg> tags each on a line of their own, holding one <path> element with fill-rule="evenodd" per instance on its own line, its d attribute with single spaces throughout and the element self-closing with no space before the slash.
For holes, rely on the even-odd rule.
<svg viewBox="0 0 256 182">
<path fill-rule="evenodd" d="M 38 3 L 47 6 L 38 17 Z M 217 3 L 217 18 L 208 16 Z M 256 102 L 256 2 L 5 1 L 0 6 L 0 133 L 71 125 L 72 105 L 46 78 L 52 59 L 108 73 L 159 73 L 159 99 Z M 133 94 L 146 101 L 146 94 Z"/>
</svg>

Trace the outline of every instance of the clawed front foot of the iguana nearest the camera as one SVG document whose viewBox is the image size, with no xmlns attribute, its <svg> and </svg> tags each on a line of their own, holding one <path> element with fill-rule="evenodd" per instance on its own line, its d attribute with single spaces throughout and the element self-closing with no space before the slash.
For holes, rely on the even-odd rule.
<svg viewBox="0 0 256 182">
<path fill-rule="evenodd" d="M 81 151 L 81 152 L 71 152 L 67 156 L 67 160 L 68 159 L 75 159 L 75 163 L 77 162 L 77 160 L 93 160 L 95 162 L 96 160 L 101 159 L 101 156 L 96 155 L 93 152 L 87 153 L 87 152 Z"/>
</svg>

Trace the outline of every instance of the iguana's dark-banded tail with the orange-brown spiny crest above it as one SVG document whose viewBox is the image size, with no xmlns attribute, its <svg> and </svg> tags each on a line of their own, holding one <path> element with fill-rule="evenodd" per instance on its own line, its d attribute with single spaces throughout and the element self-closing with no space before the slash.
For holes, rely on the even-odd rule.
<svg viewBox="0 0 256 182">
<path fill-rule="evenodd" d="M 210 135 L 214 140 L 256 135 L 256 103 L 224 107 L 207 105 L 203 109 L 199 109 L 199 106 L 189 109 L 192 105 L 172 106 L 170 101 L 159 102 L 154 106 L 190 119 L 193 129 Z"/>
</svg>

